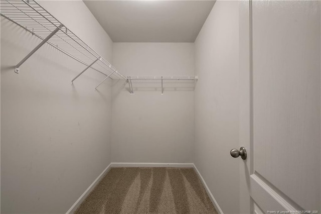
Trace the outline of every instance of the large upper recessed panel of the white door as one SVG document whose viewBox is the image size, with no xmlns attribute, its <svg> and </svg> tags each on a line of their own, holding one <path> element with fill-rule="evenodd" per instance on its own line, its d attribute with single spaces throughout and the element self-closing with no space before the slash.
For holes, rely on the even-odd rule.
<svg viewBox="0 0 321 214">
<path fill-rule="evenodd" d="M 254 171 L 308 210 L 320 202 L 318 4 L 254 1 L 252 11 Z"/>
</svg>

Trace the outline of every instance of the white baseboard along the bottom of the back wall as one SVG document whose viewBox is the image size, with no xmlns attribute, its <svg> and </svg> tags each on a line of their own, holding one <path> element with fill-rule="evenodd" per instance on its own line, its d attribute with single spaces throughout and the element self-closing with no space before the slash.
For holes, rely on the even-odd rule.
<svg viewBox="0 0 321 214">
<path fill-rule="evenodd" d="M 111 167 L 180 167 L 194 168 L 193 163 L 111 163 Z"/>
</svg>

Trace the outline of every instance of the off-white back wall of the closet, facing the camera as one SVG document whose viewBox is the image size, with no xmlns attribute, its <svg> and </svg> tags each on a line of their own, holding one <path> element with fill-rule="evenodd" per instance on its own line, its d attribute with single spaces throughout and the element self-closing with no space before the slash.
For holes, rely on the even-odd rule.
<svg viewBox="0 0 321 214">
<path fill-rule="evenodd" d="M 113 47 L 113 64 L 124 75 L 194 75 L 193 43 Z M 193 88 L 176 84 L 161 95 L 161 84 L 133 83 L 129 94 L 123 83 L 113 87 L 112 162 L 193 162 Z"/>
</svg>

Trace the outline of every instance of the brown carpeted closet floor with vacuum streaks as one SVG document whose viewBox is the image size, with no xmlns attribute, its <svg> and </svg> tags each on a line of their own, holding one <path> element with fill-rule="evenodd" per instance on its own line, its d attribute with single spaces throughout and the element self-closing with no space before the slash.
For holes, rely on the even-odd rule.
<svg viewBox="0 0 321 214">
<path fill-rule="evenodd" d="M 75 213 L 217 213 L 193 168 L 112 168 Z"/>
</svg>

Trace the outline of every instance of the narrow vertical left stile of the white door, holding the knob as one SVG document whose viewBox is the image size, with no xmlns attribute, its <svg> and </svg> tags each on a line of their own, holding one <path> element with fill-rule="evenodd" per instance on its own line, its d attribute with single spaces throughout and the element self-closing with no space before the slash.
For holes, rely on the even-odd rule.
<svg viewBox="0 0 321 214">
<path fill-rule="evenodd" d="M 240 160 L 240 213 L 254 213 L 250 197 L 250 175 L 253 173 L 253 51 L 252 2 L 239 1 L 239 144 L 247 150 L 247 159 Z"/>
</svg>

